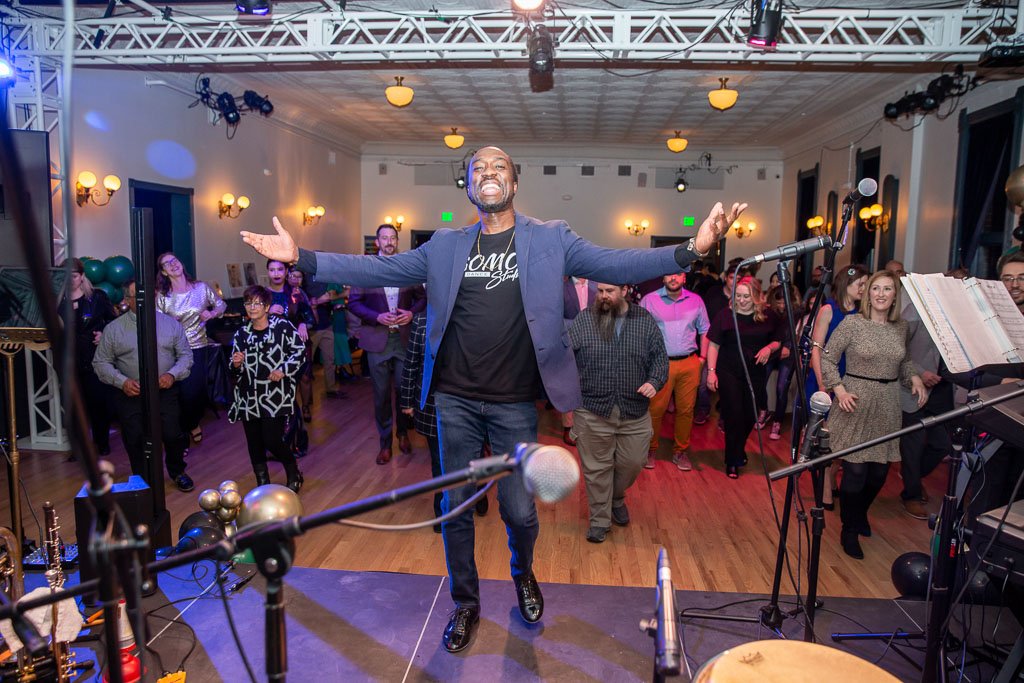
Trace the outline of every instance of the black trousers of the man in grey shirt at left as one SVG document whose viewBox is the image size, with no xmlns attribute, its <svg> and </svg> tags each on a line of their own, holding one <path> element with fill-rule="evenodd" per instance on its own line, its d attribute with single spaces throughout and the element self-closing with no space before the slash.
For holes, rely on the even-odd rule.
<svg viewBox="0 0 1024 683">
<path fill-rule="evenodd" d="M 155 486 L 156 482 L 150 481 L 143 450 L 146 435 L 142 424 L 142 397 L 126 396 L 120 389 L 116 396 L 114 405 L 118 422 L 121 423 L 121 440 L 128 452 L 131 472 Z M 181 431 L 180 398 L 181 391 L 177 384 L 170 389 L 160 390 L 160 432 L 164 441 L 164 462 L 172 479 L 185 471 L 185 432 Z M 154 444 L 154 449 L 158 449 L 157 444 Z"/>
</svg>

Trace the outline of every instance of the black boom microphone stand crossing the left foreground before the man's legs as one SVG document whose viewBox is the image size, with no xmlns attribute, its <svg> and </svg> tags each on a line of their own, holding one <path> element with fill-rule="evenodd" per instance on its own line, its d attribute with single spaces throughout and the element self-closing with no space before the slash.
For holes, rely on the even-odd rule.
<svg viewBox="0 0 1024 683">
<path fill-rule="evenodd" d="M 526 447 L 525 444 L 520 443 L 516 446 L 514 454 L 474 460 L 470 462 L 469 467 L 415 484 L 394 488 L 370 498 L 353 501 L 352 503 L 331 508 L 330 510 L 325 510 L 313 515 L 305 517 L 295 516 L 253 524 L 240 530 L 230 539 L 224 539 L 217 544 L 151 562 L 146 565 L 144 571 L 146 575 L 150 575 L 207 559 L 226 561 L 240 552 L 252 549 L 253 556 L 256 559 L 256 567 L 267 580 L 266 600 L 264 602 L 266 675 L 270 681 L 284 681 L 288 672 L 288 646 L 285 630 L 283 580 L 292 567 L 295 557 L 296 537 L 302 536 L 306 531 L 318 526 L 354 517 L 372 510 L 378 510 L 414 496 L 419 496 L 420 494 L 434 493 L 467 483 L 480 483 L 507 476 L 521 466 L 523 462 L 522 452 Z M 134 544 L 132 544 L 129 550 L 132 552 L 135 551 Z M 97 566 L 102 567 L 106 565 Z M 50 605 L 59 600 L 90 593 L 97 588 L 101 589 L 102 594 L 103 585 L 113 583 L 113 571 L 101 571 L 100 578 L 84 582 L 66 590 L 48 593 L 32 600 L 20 600 L 16 605 L 0 603 L 0 620 L 13 620 L 29 609 Z M 104 613 L 106 607 L 108 605 L 104 603 Z M 114 614 L 116 614 L 116 601 L 113 604 L 113 609 Z M 113 624 L 115 625 L 115 629 L 117 628 L 117 620 L 114 614 L 111 615 L 111 621 L 104 626 Z M 118 663 L 120 661 L 120 651 L 117 647 L 118 639 L 116 632 L 114 638 L 108 642 L 108 650 L 111 649 L 112 644 L 115 655 L 112 661 Z M 120 667 L 112 666 L 110 671 L 112 680 L 114 680 L 115 675 L 118 677 L 121 676 Z"/>
</svg>

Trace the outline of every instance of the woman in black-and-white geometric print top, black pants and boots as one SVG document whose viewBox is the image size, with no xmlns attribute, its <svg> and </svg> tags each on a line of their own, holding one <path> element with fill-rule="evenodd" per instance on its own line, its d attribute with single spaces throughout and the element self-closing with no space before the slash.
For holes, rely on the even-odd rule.
<svg viewBox="0 0 1024 683">
<path fill-rule="evenodd" d="M 234 400 L 227 417 L 242 421 L 256 485 L 270 483 L 266 453 L 285 466 L 288 487 L 299 493 L 302 473 L 285 442 L 285 428 L 295 411 L 296 377 L 305 360 L 305 343 L 286 318 L 268 315 L 270 292 L 254 286 L 243 301 L 249 323 L 234 333 L 231 375 Z"/>
</svg>

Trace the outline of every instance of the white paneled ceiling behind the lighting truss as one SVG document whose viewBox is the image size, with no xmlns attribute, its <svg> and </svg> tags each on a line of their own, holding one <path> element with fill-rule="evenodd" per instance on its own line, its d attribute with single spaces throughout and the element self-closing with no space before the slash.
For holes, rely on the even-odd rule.
<svg viewBox="0 0 1024 683">
<path fill-rule="evenodd" d="M 330 0 L 328 0 L 330 1 Z M 562 0 L 565 8 L 686 8 L 733 5 L 735 2 L 663 0 Z M 742 4 L 742 3 L 740 3 Z M 963 7 L 968 2 L 891 2 L 888 0 L 800 0 L 801 8 L 854 6 Z M 430 12 L 437 10 L 507 9 L 509 0 L 389 0 L 348 2 L 348 10 Z M 788 3 L 787 3 L 788 6 Z M 274 11 L 285 11 L 279 4 Z M 898 99 L 914 85 L 927 83 L 942 65 L 885 67 L 752 67 L 707 62 L 670 62 L 658 71 L 595 68 L 557 60 L 554 87 L 532 92 L 523 60 L 508 67 L 494 63 L 402 63 L 394 68 L 352 65 L 301 68 L 270 63 L 206 72 L 214 90 L 240 95 L 244 89 L 269 95 L 274 117 L 347 144 L 365 142 L 440 143 L 458 127 L 470 147 L 482 143 L 575 143 L 664 145 L 680 130 L 695 147 L 783 147 L 809 129 L 826 124 L 872 100 Z M 174 77 L 191 87 L 196 72 Z M 413 103 L 396 109 L 384 89 L 395 76 L 416 91 Z M 718 112 L 708 91 L 720 77 L 739 91 L 736 105 Z M 243 120 L 242 125 L 246 125 Z"/>
</svg>

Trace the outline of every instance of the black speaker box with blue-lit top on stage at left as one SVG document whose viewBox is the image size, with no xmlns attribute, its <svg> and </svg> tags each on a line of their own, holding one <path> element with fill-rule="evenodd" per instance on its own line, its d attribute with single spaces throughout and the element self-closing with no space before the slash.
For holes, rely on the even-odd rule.
<svg viewBox="0 0 1024 683">
<path fill-rule="evenodd" d="M 153 489 L 140 476 L 132 475 L 128 477 L 128 481 L 114 484 L 111 493 L 132 527 L 138 524 L 146 524 L 150 527 L 150 548 L 146 551 L 145 561 L 152 562 L 156 558 L 156 548 L 171 545 L 170 512 L 164 510 L 154 518 Z M 75 497 L 75 536 L 78 543 L 79 581 L 82 583 L 98 575 L 97 567 L 89 556 L 89 529 L 95 516 L 95 509 L 89 499 L 88 484 L 85 484 Z M 157 586 L 157 579 L 156 575 L 153 577 L 154 588 Z M 98 596 L 95 593 L 87 593 L 82 599 L 86 604 L 92 605 L 96 603 Z"/>
</svg>

